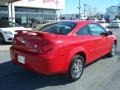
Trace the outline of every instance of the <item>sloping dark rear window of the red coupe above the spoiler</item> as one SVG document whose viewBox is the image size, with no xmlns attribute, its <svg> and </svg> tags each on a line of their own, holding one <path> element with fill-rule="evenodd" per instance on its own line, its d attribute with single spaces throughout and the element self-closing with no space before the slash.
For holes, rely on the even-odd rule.
<svg viewBox="0 0 120 90">
<path fill-rule="evenodd" d="M 54 34 L 66 35 L 75 27 L 74 22 L 56 22 L 39 29 L 38 31 L 50 32 Z"/>
</svg>

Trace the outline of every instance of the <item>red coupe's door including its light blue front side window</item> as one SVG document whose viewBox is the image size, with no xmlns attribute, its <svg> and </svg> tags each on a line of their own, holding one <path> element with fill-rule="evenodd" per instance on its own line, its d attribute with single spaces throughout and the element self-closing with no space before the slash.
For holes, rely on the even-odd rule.
<svg viewBox="0 0 120 90">
<path fill-rule="evenodd" d="M 97 59 L 108 52 L 109 38 L 108 36 L 101 35 L 106 33 L 106 30 L 98 24 L 89 25 L 91 35 L 94 41 L 94 58 Z"/>
</svg>

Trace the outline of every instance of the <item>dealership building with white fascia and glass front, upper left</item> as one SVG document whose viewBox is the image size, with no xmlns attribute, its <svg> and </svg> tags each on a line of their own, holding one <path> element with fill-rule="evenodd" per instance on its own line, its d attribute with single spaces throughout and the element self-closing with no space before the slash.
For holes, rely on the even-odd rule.
<svg viewBox="0 0 120 90">
<path fill-rule="evenodd" d="M 0 20 L 9 20 L 30 27 L 57 19 L 57 10 L 64 9 L 64 0 L 20 0 L 0 5 Z"/>
</svg>

